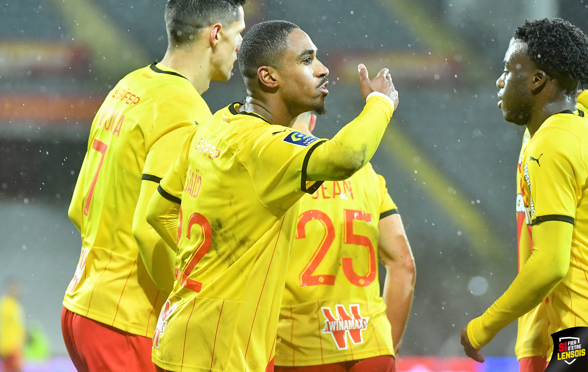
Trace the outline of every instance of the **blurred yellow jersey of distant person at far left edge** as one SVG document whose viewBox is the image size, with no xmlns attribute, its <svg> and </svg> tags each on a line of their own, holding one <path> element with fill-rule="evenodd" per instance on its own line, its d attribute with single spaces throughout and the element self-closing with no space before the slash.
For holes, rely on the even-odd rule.
<svg viewBox="0 0 588 372">
<path fill-rule="evenodd" d="M 14 297 L 0 299 L 0 357 L 22 351 L 25 344 L 25 322 L 22 308 Z"/>
</svg>

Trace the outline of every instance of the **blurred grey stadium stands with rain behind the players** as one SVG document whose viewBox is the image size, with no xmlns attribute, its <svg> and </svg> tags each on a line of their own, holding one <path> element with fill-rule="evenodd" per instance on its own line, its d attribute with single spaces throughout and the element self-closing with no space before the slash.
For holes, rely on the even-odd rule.
<svg viewBox="0 0 588 372">
<path fill-rule="evenodd" d="M 0 281 L 24 288 L 29 327 L 72 368 L 61 301 L 79 258 L 67 217 L 89 126 L 126 73 L 161 59 L 165 0 L 5 0 L 0 5 Z M 359 62 L 390 67 L 400 105 L 372 160 L 399 205 L 417 265 L 400 371 L 518 370 L 516 324 L 463 359 L 461 327 L 516 275 L 515 170 L 522 130 L 496 107 L 495 80 L 525 18 L 561 16 L 588 31 L 588 0 L 250 0 L 248 26 L 297 23 L 330 69 L 330 137 L 362 108 Z M 211 110 L 242 100 L 238 69 L 212 83 Z M 382 270 L 381 277 L 384 272 Z M 381 278 L 380 278 L 381 279 Z M 2 325 L 0 324 L 0 327 Z"/>
</svg>

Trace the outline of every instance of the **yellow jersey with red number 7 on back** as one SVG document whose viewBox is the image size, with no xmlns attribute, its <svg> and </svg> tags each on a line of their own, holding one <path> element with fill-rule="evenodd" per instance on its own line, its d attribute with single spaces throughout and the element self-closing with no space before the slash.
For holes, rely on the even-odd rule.
<svg viewBox="0 0 588 372">
<path fill-rule="evenodd" d="M 125 76 L 92 123 L 69 217 L 82 253 L 64 306 L 123 331 L 152 337 L 165 302 L 133 237 L 141 179 L 158 182 L 195 121 L 211 111 L 192 84 L 161 63 Z"/>
</svg>

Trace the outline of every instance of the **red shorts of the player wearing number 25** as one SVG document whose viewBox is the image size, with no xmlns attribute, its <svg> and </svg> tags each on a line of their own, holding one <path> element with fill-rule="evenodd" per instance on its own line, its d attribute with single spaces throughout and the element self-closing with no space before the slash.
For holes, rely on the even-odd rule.
<svg viewBox="0 0 588 372">
<path fill-rule="evenodd" d="M 284 367 L 275 366 L 275 372 L 396 372 L 393 356 L 382 355 L 362 360 L 341 363 L 320 364 L 319 366 Z"/>
</svg>

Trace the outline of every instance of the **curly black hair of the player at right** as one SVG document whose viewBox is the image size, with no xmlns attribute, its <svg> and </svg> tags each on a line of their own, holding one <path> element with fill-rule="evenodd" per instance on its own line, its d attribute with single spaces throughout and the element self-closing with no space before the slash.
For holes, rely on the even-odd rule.
<svg viewBox="0 0 588 372">
<path fill-rule="evenodd" d="M 515 39 L 529 46 L 529 57 L 548 75 L 588 83 L 588 37 L 572 23 L 562 18 L 527 19 Z"/>
</svg>

